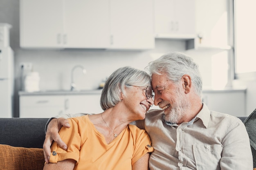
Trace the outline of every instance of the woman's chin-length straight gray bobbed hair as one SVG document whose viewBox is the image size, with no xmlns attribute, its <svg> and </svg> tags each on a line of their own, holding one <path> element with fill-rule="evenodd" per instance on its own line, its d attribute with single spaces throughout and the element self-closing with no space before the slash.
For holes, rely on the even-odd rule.
<svg viewBox="0 0 256 170">
<path fill-rule="evenodd" d="M 121 101 L 120 95 L 126 95 L 125 86 L 150 86 L 151 77 L 145 71 L 131 68 L 121 67 L 108 77 L 101 92 L 101 108 L 106 110 L 115 106 Z"/>
</svg>

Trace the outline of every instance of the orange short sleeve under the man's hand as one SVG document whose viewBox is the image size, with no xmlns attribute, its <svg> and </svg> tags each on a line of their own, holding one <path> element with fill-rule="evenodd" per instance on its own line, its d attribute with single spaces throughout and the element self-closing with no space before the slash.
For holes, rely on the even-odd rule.
<svg viewBox="0 0 256 170">
<path fill-rule="evenodd" d="M 65 159 L 74 159 L 76 163 L 79 161 L 81 137 L 79 126 L 74 119 L 68 119 L 70 128 L 62 127 L 59 131 L 61 139 L 67 144 L 67 150 L 63 150 L 56 142 L 51 146 L 51 155 L 49 162 L 57 163 Z"/>
</svg>

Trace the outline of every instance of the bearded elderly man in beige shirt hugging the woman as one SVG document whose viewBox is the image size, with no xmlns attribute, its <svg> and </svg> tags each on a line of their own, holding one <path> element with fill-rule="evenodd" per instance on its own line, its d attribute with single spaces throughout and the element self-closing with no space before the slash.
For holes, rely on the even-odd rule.
<svg viewBox="0 0 256 170">
<path fill-rule="evenodd" d="M 202 103 L 202 79 L 198 65 L 183 53 L 167 53 L 147 66 L 155 93 L 154 104 L 136 121 L 148 132 L 155 149 L 150 170 L 252 170 L 252 151 L 240 119 L 210 111 Z M 66 115 L 67 117 L 80 116 Z M 56 117 L 58 118 L 58 117 Z M 52 140 L 64 149 L 58 136 L 64 118 L 50 121 L 44 143 L 45 160 Z M 88 129 L 90 130 L 90 129 Z"/>
</svg>

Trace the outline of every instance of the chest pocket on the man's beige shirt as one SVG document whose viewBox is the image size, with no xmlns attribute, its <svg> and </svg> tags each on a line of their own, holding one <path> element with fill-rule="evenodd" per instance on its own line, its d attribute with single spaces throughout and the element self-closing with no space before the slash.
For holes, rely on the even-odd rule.
<svg viewBox="0 0 256 170">
<path fill-rule="evenodd" d="M 197 170 L 220 169 L 222 145 L 193 145 L 193 154 Z"/>
</svg>

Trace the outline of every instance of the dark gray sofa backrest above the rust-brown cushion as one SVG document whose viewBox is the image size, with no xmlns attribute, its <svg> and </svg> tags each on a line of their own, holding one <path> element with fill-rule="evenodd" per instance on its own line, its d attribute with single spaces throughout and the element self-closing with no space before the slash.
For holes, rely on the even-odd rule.
<svg viewBox="0 0 256 170">
<path fill-rule="evenodd" d="M 0 118 L 0 144 L 43 148 L 47 118 Z"/>
</svg>

